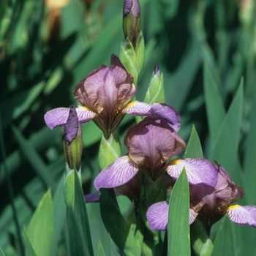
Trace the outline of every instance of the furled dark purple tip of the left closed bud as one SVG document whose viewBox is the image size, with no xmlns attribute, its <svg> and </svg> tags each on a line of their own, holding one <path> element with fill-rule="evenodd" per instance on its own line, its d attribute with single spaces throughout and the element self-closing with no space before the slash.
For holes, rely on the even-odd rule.
<svg viewBox="0 0 256 256">
<path fill-rule="evenodd" d="M 68 143 L 72 143 L 75 137 L 78 135 L 79 128 L 78 115 L 75 111 L 75 106 L 72 106 L 69 110 L 69 117 L 67 118 L 67 123 L 65 124 L 63 139 Z"/>
</svg>

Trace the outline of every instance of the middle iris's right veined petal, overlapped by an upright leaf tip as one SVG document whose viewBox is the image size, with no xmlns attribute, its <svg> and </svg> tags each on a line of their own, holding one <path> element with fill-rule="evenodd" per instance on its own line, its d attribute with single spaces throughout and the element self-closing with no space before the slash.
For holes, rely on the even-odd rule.
<svg viewBox="0 0 256 256">
<path fill-rule="evenodd" d="M 167 163 L 167 173 L 178 178 L 186 168 L 189 184 L 214 187 L 217 183 L 217 170 L 210 161 L 200 158 L 174 159 Z"/>
</svg>

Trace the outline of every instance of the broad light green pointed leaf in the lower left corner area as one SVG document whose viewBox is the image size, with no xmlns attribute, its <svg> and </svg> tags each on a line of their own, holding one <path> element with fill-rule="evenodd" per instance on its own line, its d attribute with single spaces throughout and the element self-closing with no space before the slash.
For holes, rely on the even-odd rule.
<svg viewBox="0 0 256 256">
<path fill-rule="evenodd" d="M 37 256 L 51 255 L 53 246 L 53 201 L 50 189 L 42 197 L 33 214 L 28 236 Z"/>
</svg>

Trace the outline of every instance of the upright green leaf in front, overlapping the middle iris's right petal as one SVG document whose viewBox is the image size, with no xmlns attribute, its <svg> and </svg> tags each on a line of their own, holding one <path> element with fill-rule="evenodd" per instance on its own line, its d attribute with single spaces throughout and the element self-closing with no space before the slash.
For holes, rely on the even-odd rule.
<svg viewBox="0 0 256 256">
<path fill-rule="evenodd" d="M 183 169 L 169 201 L 167 255 L 190 255 L 189 184 Z"/>
</svg>

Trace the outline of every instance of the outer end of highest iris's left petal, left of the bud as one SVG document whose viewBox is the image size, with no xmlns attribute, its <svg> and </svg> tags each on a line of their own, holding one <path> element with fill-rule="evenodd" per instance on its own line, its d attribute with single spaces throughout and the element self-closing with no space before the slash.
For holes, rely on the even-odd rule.
<svg viewBox="0 0 256 256">
<path fill-rule="evenodd" d="M 69 117 L 69 108 L 54 108 L 45 113 L 45 124 L 50 129 L 55 127 L 63 127 L 67 123 Z"/>
</svg>

